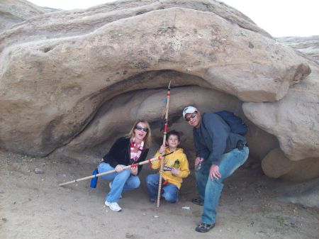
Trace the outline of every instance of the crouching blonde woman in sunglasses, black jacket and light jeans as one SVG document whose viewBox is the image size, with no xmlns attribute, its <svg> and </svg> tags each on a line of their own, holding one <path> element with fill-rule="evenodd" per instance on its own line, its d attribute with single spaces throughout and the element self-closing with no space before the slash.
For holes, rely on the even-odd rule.
<svg viewBox="0 0 319 239">
<path fill-rule="evenodd" d="M 108 153 L 103 157 L 99 173 L 115 169 L 113 174 L 101 176 L 110 182 L 110 191 L 106 195 L 105 205 L 113 211 L 121 211 L 118 201 L 122 191 L 136 189 L 140 186 L 138 174 L 142 165 L 123 169 L 123 167 L 142 162 L 146 159 L 151 143 L 150 125 L 147 121 L 138 120 L 125 137 L 118 138 Z"/>
</svg>

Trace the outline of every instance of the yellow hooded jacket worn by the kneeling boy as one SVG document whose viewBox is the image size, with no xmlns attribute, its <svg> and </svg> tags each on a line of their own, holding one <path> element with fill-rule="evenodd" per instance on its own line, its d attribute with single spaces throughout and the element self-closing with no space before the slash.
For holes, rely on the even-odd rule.
<svg viewBox="0 0 319 239">
<path fill-rule="evenodd" d="M 167 147 L 165 154 L 169 153 L 169 148 Z M 155 157 L 161 155 L 158 151 L 155 154 Z M 179 160 L 179 170 L 180 173 L 178 176 L 174 176 L 170 171 L 172 167 L 174 167 L 174 163 L 176 160 Z M 161 161 L 156 160 L 152 162 L 152 169 L 158 169 L 161 166 Z M 177 148 L 171 155 L 167 155 L 164 157 L 164 167 L 163 167 L 163 175 L 162 177 L 168 181 L 169 184 L 176 185 L 179 189 L 181 188 L 181 182 L 183 182 L 183 178 L 189 176 L 189 161 L 187 160 L 186 155 L 184 154 L 184 150 L 182 148 Z"/>
</svg>

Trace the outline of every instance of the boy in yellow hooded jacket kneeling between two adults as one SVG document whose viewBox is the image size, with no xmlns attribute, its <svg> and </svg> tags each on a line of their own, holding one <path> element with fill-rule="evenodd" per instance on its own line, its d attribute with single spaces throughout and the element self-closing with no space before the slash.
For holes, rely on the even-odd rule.
<svg viewBox="0 0 319 239">
<path fill-rule="evenodd" d="M 162 197 L 170 203 L 176 203 L 179 199 L 179 189 L 181 188 L 181 182 L 183 178 L 189 176 L 189 162 L 184 150 L 177 148 L 180 143 L 179 133 L 175 130 L 167 133 L 167 140 L 165 145 L 162 145 L 156 153 L 155 157 L 164 152 L 167 154 L 173 152 L 170 155 L 164 157 L 164 168 L 162 179 Z M 158 169 L 160 167 L 160 160 L 152 162 L 152 169 Z M 157 199 L 159 174 L 150 174 L 146 177 L 147 190 L 150 194 L 150 201 L 154 202 Z"/>
</svg>

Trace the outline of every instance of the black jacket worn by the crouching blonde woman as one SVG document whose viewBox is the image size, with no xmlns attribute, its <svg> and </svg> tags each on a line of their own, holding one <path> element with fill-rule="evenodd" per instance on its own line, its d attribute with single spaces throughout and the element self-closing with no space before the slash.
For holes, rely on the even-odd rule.
<svg viewBox="0 0 319 239">
<path fill-rule="evenodd" d="M 142 162 L 146 159 L 148 148 L 145 149 L 145 146 L 140 154 L 140 157 L 137 162 Z M 131 165 L 130 163 L 130 138 L 121 137 L 116 140 L 112 145 L 111 149 L 103 157 L 103 162 L 108 163 L 112 167 L 116 165 Z M 138 174 L 142 170 L 142 165 L 138 166 Z"/>
</svg>

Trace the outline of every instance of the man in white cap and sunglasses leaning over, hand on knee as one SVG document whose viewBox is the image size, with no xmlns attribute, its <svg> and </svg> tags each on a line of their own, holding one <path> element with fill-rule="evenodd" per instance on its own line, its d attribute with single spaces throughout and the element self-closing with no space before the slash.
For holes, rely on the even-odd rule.
<svg viewBox="0 0 319 239">
<path fill-rule="evenodd" d="M 232 133 L 228 124 L 216 113 L 201 115 L 194 106 L 188 106 L 183 111 L 183 117 L 194 127 L 198 199 L 192 202 L 203 205 L 201 224 L 195 230 L 206 233 L 216 223 L 223 180 L 247 160 L 249 149 L 245 136 Z"/>
</svg>

